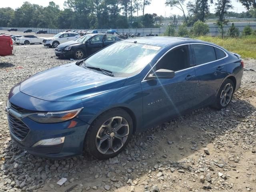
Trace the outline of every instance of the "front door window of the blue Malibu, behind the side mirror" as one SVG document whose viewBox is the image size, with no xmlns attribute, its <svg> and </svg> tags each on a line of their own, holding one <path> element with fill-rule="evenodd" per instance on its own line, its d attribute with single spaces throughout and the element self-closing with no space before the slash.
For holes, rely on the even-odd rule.
<svg viewBox="0 0 256 192">
<path fill-rule="evenodd" d="M 153 70 L 168 69 L 179 71 L 190 67 L 188 46 L 179 46 L 168 52 Z"/>
</svg>

